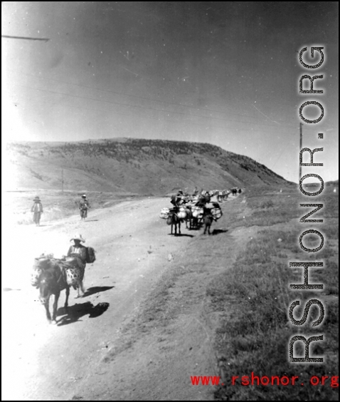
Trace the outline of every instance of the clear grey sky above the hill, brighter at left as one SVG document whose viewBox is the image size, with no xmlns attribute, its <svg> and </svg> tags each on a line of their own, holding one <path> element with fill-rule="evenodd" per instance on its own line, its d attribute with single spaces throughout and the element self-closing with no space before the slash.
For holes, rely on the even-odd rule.
<svg viewBox="0 0 340 402">
<path fill-rule="evenodd" d="M 339 177 L 337 1 L 2 1 L 3 142 L 100 138 L 218 145 L 299 177 L 303 147 Z M 46 38 L 38 41 L 4 36 Z M 324 47 L 324 63 L 311 46 Z M 299 78 L 322 94 L 299 94 Z M 307 88 L 307 81 L 304 81 Z M 304 117 L 319 117 L 304 108 Z M 324 139 L 318 139 L 324 133 Z M 307 162 L 305 153 L 304 162 Z"/>
</svg>

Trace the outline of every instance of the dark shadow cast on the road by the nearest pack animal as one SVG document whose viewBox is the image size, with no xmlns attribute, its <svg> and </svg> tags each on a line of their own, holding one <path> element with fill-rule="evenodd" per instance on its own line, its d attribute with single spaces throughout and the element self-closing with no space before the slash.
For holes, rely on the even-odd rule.
<svg viewBox="0 0 340 402">
<path fill-rule="evenodd" d="M 80 321 L 80 318 L 89 314 L 90 318 L 101 316 L 108 308 L 109 303 L 98 303 L 94 306 L 90 301 L 83 304 L 74 304 L 67 309 L 61 307 L 58 309 L 57 316 L 63 315 L 58 321 L 58 326 L 73 324 L 73 322 Z M 65 314 L 65 315 L 64 315 Z"/>
</svg>

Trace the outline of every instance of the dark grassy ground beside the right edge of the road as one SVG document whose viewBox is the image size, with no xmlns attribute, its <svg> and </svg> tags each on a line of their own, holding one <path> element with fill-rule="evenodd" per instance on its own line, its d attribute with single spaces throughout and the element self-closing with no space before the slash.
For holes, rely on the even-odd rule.
<svg viewBox="0 0 340 402">
<path fill-rule="evenodd" d="M 305 198 L 292 189 L 259 189 L 247 193 L 245 207 L 241 203 L 237 206 L 239 213 L 231 220 L 232 227 L 257 225 L 259 230 L 245 244 L 233 267 L 214 278 L 207 289 L 216 309 L 224 311 L 216 333 L 218 367 L 225 384 L 215 392 L 218 401 L 338 400 L 336 386 L 330 386 L 330 377 L 338 375 L 338 188 L 327 188 L 314 201 L 323 202 L 324 209 L 309 219 L 323 218 L 322 224 L 299 222 L 309 212 L 299 203 L 312 202 Z M 319 230 L 325 238 L 323 249 L 316 253 L 304 252 L 298 243 L 299 235 L 310 228 Z M 306 236 L 304 244 L 317 247 L 319 238 Z M 289 290 L 289 284 L 303 282 L 302 268 L 289 268 L 289 262 L 302 261 L 324 262 L 323 269 L 309 269 L 309 282 L 324 284 L 323 290 Z M 312 328 L 312 321 L 319 317 L 319 308 L 312 306 L 304 326 L 292 325 L 289 305 L 300 300 L 300 306 L 294 310 L 295 319 L 299 319 L 309 299 L 319 299 L 324 304 L 322 324 Z M 312 342 L 310 346 L 310 356 L 324 356 L 323 364 L 289 363 L 289 339 L 296 334 L 307 338 L 324 334 L 324 341 Z M 294 356 L 297 355 L 303 356 L 301 342 L 294 349 Z M 295 386 L 242 386 L 241 376 L 250 376 L 252 372 L 260 377 L 299 378 Z M 232 376 L 239 376 L 235 385 Z M 324 386 L 312 386 L 312 376 L 329 378 Z"/>
</svg>

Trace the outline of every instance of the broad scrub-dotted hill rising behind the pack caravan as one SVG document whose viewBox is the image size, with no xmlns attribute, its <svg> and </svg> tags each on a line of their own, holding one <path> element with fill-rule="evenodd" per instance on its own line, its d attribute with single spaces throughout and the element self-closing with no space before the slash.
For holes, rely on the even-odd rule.
<svg viewBox="0 0 340 402">
<path fill-rule="evenodd" d="M 64 190 L 138 195 L 287 183 L 251 158 L 206 143 L 119 138 L 10 143 L 6 151 L 7 190 L 56 190 L 62 177 Z"/>
</svg>

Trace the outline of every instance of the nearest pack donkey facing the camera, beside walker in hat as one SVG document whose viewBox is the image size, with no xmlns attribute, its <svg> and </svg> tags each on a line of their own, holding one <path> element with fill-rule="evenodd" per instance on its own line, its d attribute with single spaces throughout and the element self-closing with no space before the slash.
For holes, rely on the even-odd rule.
<svg viewBox="0 0 340 402">
<path fill-rule="evenodd" d="M 56 324 L 56 316 L 57 316 L 57 307 L 58 307 L 58 299 L 60 297 L 60 292 L 63 289 L 66 289 L 66 299 L 64 307 L 68 308 L 68 297 L 70 296 L 70 285 L 68 285 L 66 281 L 65 271 L 60 268 L 59 264 L 56 262 L 52 262 L 50 260 L 49 267 L 44 269 L 40 275 L 39 281 L 39 300 L 41 304 L 46 309 L 46 317 L 48 322 L 51 324 Z M 53 313 L 51 318 L 51 313 L 49 309 L 49 301 L 51 294 L 54 294 L 53 301 Z"/>
</svg>

